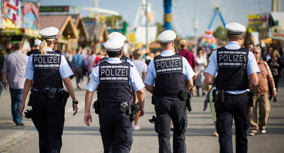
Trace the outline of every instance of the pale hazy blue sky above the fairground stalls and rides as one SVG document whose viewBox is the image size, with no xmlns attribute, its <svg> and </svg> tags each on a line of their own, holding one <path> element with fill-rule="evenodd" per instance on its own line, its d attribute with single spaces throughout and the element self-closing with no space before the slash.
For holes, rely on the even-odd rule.
<svg viewBox="0 0 284 153">
<path fill-rule="evenodd" d="M 31 0 L 38 1 L 38 0 Z M 80 1 L 80 2 L 78 2 Z M 154 14 L 154 23 L 163 24 L 163 1 L 148 0 Z M 44 6 L 69 5 L 77 7 L 93 7 L 93 0 L 42 0 Z M 142 0 L 99 0 L 98 7 L 118 12 L 129 26 L 134 25 L 136 13 Z M 218 7 L 225 20 L 225 23 L 239 22 L 246 26 L 248 14 L 269 13 L 272 9 L 272 0 L 172 0 L 173 23 L 172 26 L 181 37 L 200 36 L 209 27 Z M 284 0 L 281 3 L 281 10 L 284 11 Z M 74 10 L 69 10 L 75 13 Z M 79 9 L 83 17 L 89 16 L 90 12 Z M 193 19 L 197 18 L 196 31 L 194 31 Z M 141 19 L 141 17 L 140 17 Z M 141 21 L 141 20 L 140 20 Z M 141 22 L 139 22 L 141 24 Z M 216 16 L 211 29 L 223 26 L 219 15 Z"/>
</svg>

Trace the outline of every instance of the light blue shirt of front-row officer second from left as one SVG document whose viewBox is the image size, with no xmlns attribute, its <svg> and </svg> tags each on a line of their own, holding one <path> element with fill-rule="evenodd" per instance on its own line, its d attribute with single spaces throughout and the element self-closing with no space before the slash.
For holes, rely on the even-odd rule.
<svg viewBox="0 0 284 153">
<path fill-rule="evenodd" d="M 129 61 L 129 60 L 128 60 Z M 127 61 L 127 62 L 128 62 Z M 116 57 L 110 57 L 107 60 L 110 64 L 118 64 L 122 63 L 122 61 L 119 58 Z M 86 85 L 86 89 L 95 92 L 95 89 L 99 85 L 99 66 L 95 66 L 92 70 L 92 72 L 89 75 L 89 83 Z M 143 81 L 139 75 L 139 72 L 135 67 L 130 66 L 130 77 L 129 77 L 129 85 L 132 86 L 133 90 L 135 92 L 140 91 L 142 88 L 145 87 L 143 84 Z"/>
</svg>

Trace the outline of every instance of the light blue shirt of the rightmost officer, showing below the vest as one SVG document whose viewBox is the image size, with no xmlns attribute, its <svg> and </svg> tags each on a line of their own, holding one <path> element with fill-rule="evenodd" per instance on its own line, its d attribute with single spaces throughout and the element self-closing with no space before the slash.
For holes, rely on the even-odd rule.
<svg viewBox="0 0 284 153">
<path fill-rule="evenodd" d="M 229 42 L 226 46 L 226 49 L 228 50 L 238 50 L 240 49 L 240 46 L 237 42 Z M 251 51 L 248 52 L 248 57 L 247 57 L 247 66 L 246 66 L 246 73 L 247 75 L 250 75 L 252 73 L 257 72 L 260 73 L 260 70 L 257 66 L 257 62 L 255 60 L 255 57 L 253 55 L 253 53 Z M 209 64 L 207 66 L 207 68 L 205 69 L 204 73 L 210 73 L 211 75 L 215 76 L 215 74 L 218 71 L 218 64 L 217 64 L 217 50 L 213 51 L 211 56 L 209 57 Z M 241 94 L 244 92 L 249 92 L 249 89 L 246 90 L 242 90 L 242 91 L 225 91 L 229 94 Z"/>
</svg>

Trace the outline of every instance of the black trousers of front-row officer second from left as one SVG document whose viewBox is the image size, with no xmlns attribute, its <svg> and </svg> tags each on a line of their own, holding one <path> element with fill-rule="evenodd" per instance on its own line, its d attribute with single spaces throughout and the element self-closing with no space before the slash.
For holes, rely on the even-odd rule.
<svg viewBox="0 0 284 153">
<path fill-rule="evenodd" d="M 118 108 L 100 107 L 98 118 L 104 153 L 129 153 L 133 143 L 130 115 Z"/>
</svg>

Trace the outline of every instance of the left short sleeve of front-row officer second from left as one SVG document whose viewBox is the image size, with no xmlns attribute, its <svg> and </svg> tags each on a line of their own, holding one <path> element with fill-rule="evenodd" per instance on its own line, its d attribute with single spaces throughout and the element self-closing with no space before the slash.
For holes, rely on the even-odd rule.
<svg viewBox="0 0 284 153">
<path fill-rule="evenodd" d="M 99 85 L 99 78 L 98 78 L 98 65 L 95 66 L 92 70 L 92 72 L 89 75 L 90 79 L 86 85 L 86 89 L 91 91 L 91 92 L 95 92 L 96 87 L 98 87 Z"/>
</svg>

